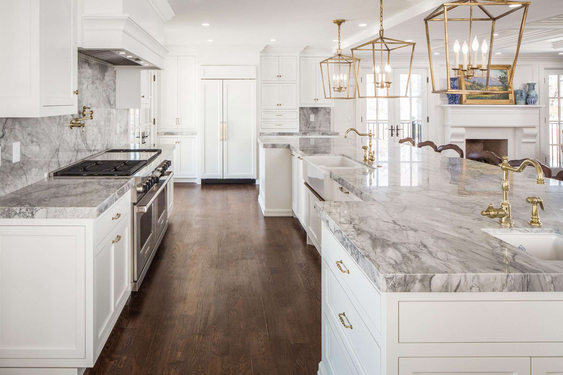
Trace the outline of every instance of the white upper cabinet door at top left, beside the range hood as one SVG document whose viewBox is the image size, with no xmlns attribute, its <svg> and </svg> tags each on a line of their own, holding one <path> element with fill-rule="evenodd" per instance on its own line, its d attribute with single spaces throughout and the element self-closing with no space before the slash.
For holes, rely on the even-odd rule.
<svg viewBox="0 0 563 375">
<path fill-rule="evenodd" d="M 75 0 L 39 2 L 41 6 L 42 105 L 76 106 L 78 55 Z"/>
</svg>

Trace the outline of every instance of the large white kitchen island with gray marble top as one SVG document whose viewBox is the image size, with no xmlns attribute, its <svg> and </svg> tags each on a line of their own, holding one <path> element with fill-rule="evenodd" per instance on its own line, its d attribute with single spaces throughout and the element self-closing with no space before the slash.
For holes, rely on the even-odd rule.
<svg viewBox="0 0 563 375">
<path fill-rule="evenodd" d="M 561 182 L 536 184 L 533 168 L 510 173 L 507 229 L 480 214 L 502 200 L 497 166 L 382 140 L 367 165 L 359 137 L 285 144 L 262 147 L 302 158 L 293 180 L 323 187 L 320 169 L 340 191 L 306 199 L 321 233 L 311 206 L 300 211 L 323 258 L 320 374 L 563 371 Z M 319 155 L 357 166 L 314 168 Z M 528 196 L 543 199 L 540 228 L 528 224 Z M 526 246 L 495 237 L 506 234 Z"/>
</svg>

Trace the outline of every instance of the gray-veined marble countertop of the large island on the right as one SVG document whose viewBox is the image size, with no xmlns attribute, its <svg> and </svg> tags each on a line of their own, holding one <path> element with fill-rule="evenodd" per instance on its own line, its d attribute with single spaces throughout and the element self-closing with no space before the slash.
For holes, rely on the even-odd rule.
<svg viewBox="0 0 563 375">
<path fill-rule="evenodd" d="M 263 147 L 285 143 L 262 139 Z M 361 163 L 361 138 L 298 138 L 294 153 L 344 155 Z M 563 261 L 539 259 L 491 232 L 563 228 L 561 182 L 535 183 L 535 170 L 510 174 L 515 225 L 480 215 L 502 200 L 497 166 L 448 157 L 428 148 L 374 140 L 367 168 L 332 168 L 330 177 L 361 202 L 319 202 L 321 220 L 382 292 L 563 291 Z M 527 196 L 543 199 L 543 227 L 528 224 Z M 488 229 L 489 233 L 483 231 Z"/>
</svg>

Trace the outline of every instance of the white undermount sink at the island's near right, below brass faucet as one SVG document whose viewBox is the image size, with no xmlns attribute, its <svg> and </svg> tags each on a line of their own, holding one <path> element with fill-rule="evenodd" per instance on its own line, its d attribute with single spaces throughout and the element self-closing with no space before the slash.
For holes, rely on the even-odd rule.
<svg viewBox="0 0 563 375">
<path fill-rule="evenodd" d="M 535 232 L 503 232 L 490 233 L 499 240 L 510 243 L 528 254 L 544 260 L 563 260 L 563 236 L 558 233 Z"/>
</svg>

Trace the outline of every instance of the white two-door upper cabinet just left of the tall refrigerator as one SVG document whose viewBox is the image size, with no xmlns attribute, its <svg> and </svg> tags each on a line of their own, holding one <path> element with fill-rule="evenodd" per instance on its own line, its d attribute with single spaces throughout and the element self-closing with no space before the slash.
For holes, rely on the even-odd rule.
<svg viewBox="0 0 563 375">
<path fill-rule="evenodd" d="M 168 56 L 160 77 L 160 129 L 195 129 L 195 57 Z"/>
</svg>

